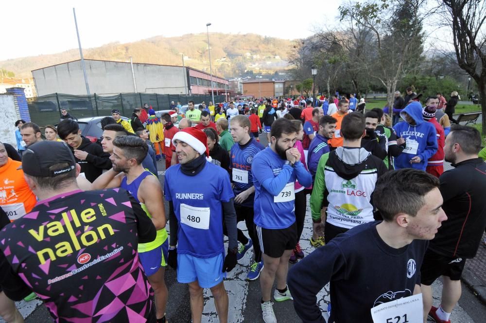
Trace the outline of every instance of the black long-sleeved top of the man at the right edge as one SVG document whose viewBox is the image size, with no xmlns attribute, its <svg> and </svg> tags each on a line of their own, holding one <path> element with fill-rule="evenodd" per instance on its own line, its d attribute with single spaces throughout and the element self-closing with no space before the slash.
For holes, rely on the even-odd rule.
<svg viewBox="0 0 486 323">
<path fill-rule="evenodd" d="M 430 250 L 451 258 L 473 258 L 486 227 L 486 163 L 481 158 L 452 164 L 440 179 L 442 222 Z"/>
</svg>

